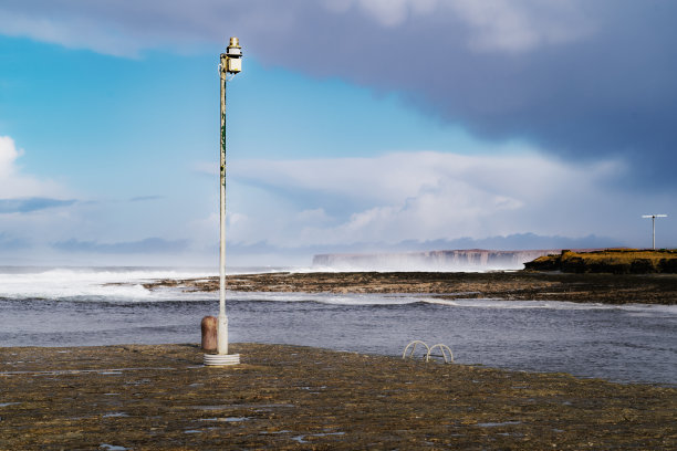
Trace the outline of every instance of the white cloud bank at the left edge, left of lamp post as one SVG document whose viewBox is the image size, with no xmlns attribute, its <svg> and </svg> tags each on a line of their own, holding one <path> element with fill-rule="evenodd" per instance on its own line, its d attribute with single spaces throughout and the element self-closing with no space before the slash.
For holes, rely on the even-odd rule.
<svg viewBox="0 0 677 451">
<path fill-rule="evenodd" d="M 115 235 L 112 229 L 119 229 L 119 224 L 112 219 L 119 214 L 119 209 L 112 209 L 112 206 L 119 202 L 108 201 L 102 207 L 101 202 L 71 198 L 64 186 L 27 174 L 19 165 L 23 154 L 11 137 L 0 136 L 0 250 L 3 261 L 35 263 L 44 254 L 58 259 L 52 251 L 100 255 L 166 255 L 189 251 L 187 239 L 146 238 L 112 243 L 83 240 L 84 234 Z M 142 196 L 123 203 L 159 198 Z M 69 238 L 73 235 L 79 238 Z"/>
</svg>

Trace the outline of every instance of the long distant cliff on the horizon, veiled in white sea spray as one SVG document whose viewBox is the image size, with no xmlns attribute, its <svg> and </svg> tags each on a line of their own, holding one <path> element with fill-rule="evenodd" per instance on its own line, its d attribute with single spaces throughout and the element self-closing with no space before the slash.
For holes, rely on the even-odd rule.
<svg viewBox="0 0 677 451">
<path fill-rule="evenodd" d="M 521 270 L 525 262 L 561 250 L 491 251 L 483 249 L 373 254 L 320 254 L 313 266 L 374 271 Z"/>
</svg>

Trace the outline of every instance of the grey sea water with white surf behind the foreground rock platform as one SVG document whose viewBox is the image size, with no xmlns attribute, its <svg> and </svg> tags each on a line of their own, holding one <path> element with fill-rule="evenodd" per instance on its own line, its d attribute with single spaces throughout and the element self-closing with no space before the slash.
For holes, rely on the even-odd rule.
<svg viewBox="0 0 677 451">
<path fill-rule="evenodd" d="M 262 272 L 270 269 L 250 269 Z M 145 282 L 205 269 L 0 268 L 0 346 L 199 343 L 218 293 Z M 420 339 L 456 361 L 677 385 L 677 306 L 455 300 L 414 294 L 228 292 L 231 343 L 402 356 Z"/>
</svg>

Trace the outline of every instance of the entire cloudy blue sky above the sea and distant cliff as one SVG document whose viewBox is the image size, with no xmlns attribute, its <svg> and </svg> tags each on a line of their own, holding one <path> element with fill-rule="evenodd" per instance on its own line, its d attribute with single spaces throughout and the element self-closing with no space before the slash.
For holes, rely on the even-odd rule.
<svg viewBox="0 0 677 451">
<path fill-rule="evenodd" d="M 0 264 L 677 247 L 669 0 L 0 0 Z"/>
</svg>

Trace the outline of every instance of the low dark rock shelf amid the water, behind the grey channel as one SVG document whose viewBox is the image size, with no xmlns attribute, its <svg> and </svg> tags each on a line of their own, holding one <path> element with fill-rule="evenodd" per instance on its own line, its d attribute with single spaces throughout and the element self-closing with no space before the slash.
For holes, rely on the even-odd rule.
<svg viewBox="0 0 677 451">
<path fill-rule="evenodd" d="M 605 304 L 676 304 L 677 274 L 562 274 L 549 272 L 341 272 L 232 275 L 228 290 L 306 293 L 426 293 L 445 298 L 492 297 Z M 148 283 L 186 291 L 217 291 L 218 277 Z"/>
</svg>

